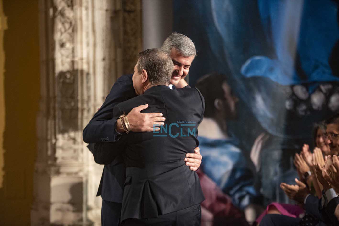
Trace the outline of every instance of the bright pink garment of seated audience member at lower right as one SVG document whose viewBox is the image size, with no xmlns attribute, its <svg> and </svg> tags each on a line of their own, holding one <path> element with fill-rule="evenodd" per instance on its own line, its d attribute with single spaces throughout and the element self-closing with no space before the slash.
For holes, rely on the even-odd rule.
<svg viewBox="0 0 339 226">
<path fill-rule="evenodd" d="M 256 222 L 260 222 L 272 206 L 276 207 L 282 215 L 287 217 L 298 218 L 300 214 L 304 213 L 304 210 L 297 205 L 273 202 L 266 207 L 266 210 L 257 218 Z"/>
</svg>

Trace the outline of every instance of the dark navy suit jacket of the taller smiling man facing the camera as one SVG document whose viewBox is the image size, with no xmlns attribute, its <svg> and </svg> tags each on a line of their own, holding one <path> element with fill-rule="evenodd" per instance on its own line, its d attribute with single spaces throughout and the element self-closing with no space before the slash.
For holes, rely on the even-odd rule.
<svg viewBox="0 0 339 226">
<path fill-rule="evenodd" d="M 113 108 L 116 104 L 136 97 L 132 82 L 133 74 L 123 75 L 113 85 L 104 103 L 91 121 L 83 130 L 83 140 L 90 143 L 87 147 L 93 153 L 96 142 L 115 142 L 115 123 L 118 117 L 112 118 Z M 97 162 L 98 163 L 98 162 Z M 125 163 L 122 156 L 117 156 L 113 162 L 101 162 L 105 164 L 102 172 L 97 196 L 111 202 L 122 202 L 123 183 L 125 181 Z"/>
</svg>

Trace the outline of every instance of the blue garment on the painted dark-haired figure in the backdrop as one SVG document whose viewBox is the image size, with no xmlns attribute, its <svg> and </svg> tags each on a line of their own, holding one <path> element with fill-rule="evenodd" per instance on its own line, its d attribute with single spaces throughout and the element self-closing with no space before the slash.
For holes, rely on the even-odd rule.
<svg viewBox="0 0 339 226">
<path fill-rule="evenodd" d="M 198 140 L 203 172 L 231 196 L 233 204 L 241 209 L 250 204 L 257 192 L 253 187 L 252 171 L 238 148 L 237 140 L 200 136 Z"/>
</svg>

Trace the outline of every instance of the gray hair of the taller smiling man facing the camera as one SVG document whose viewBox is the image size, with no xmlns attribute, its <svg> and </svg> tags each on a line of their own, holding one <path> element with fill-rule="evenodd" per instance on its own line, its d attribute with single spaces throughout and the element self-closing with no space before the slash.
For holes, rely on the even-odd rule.
<svg viewBox="0 0 339 226">
<path fill-rule="evenodd" d="M 197 55 L 192 40 L 177 32 L 169 35 L 161 46 L 161 49 L 167 54 L 171 54 L 172 48 L 175 48 L 183 57 L 195 57 Z"/>
</svg>

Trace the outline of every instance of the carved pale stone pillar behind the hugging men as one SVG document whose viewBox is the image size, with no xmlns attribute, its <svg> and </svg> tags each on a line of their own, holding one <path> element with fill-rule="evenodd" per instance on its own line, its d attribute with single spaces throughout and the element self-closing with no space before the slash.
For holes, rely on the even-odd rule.
<svg viewBox="0 0 339 226">
<path fill-rule="evenodd" d="M 40 0 L 32 226 L 100 225 L 102 166 L 82 130 L 141 49 L 140 0 Z M 124 24 L 127 26 L 124 26 Z"/>
</svg>

